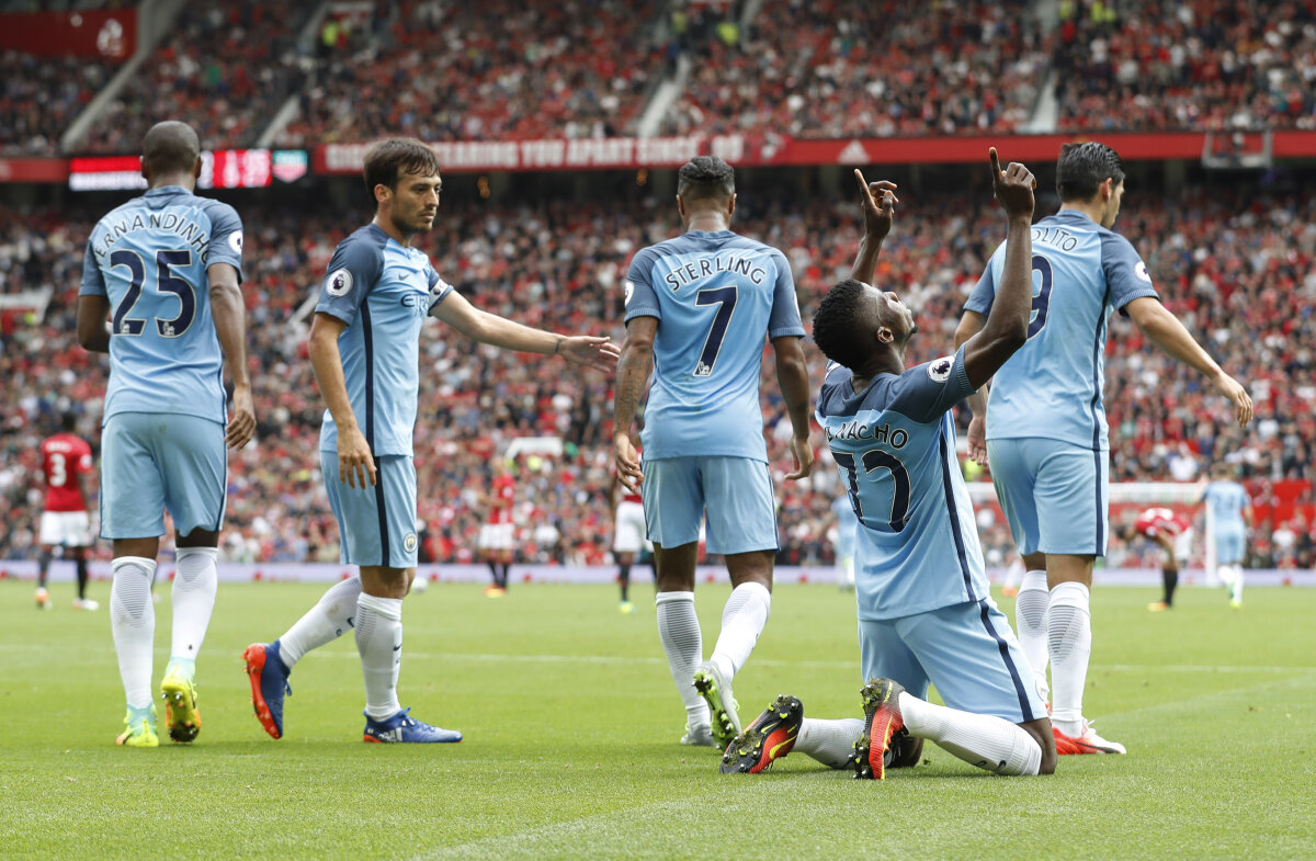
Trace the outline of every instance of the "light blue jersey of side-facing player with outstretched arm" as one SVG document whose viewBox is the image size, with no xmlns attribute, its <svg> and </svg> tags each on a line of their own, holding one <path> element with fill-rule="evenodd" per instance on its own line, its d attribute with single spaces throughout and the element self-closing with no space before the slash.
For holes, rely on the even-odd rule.
<svg viewBox="0 0 1316 861">
<path fill-rule="evenodd" d="M 437 291 L 432 291 L 441 284 Z M 338 336 L 342 374 L 357 425 L 375 457 L 411 457 L 420 392 L 420 329 L 447 298 L 429 257 L 368 224 L 334 249 L 316 313 L 347 324 Z M 325 409 L 320 450 L 338 450 L 338 425 Z"/>
</svg>

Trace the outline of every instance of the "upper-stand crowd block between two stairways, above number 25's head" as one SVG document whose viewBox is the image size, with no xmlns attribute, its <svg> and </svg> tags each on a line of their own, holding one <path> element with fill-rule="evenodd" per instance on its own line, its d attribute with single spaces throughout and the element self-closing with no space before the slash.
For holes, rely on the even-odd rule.
<svg viewBox="0 0 1316 861">
<path fill-rule="evenodd" d="M 301 90 L 296 38 L 313 8 L 259 0 L 186 4 L 170 34 L 74 149 L 136 153 L 151 124 L 178 116 L 208 147 L 251 146 Z"/>
</svg>

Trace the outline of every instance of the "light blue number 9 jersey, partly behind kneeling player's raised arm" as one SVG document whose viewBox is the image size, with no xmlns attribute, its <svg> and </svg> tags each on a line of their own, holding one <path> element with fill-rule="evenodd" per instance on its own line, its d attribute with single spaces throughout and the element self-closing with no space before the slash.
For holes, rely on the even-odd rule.
<svg viewBox="0 0 1316 861">
<path fill-rule="evenodd" d="M 1003 242 L 965 308 L 987 315 L 1005 267 Z M 992 379 L 987 438 L 1044 437 L 1109 449 L 1105 332 L 1111 312 L 1157 296 L 1133 246 L 1076 209 L 1033 225 L 1033 312 L 1028 342 Z"/>
</svg>

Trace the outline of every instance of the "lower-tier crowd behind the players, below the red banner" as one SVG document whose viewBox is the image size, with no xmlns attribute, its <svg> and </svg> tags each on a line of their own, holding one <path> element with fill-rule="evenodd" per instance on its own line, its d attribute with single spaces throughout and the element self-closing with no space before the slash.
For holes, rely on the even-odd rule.
<svg viewBox="0 0 1316 861">
<path fill-rule="evenodd" d="M 921 333 L 909 361 L 949 352 L 957 316 L 983 261 L 1001 238 L 1000 216 L 965 195 L 904 194 L 887 240 L 880 283 L 917 309 Z M 1242 200 L 1250 200 L 1244 205 Z M 637 217 L 637 213 L 638 217 Z M 246 295 L 258 442 L 233 456 L 225 558 L 337 560 L 315 452 L 321 403 L 299 309 L 317 290 L 334 245 L 353 225 L 341 213 L 242 207 Z M 744 201 L 737 229 L 783 249 L 805 320 L 834 280 L 849 274 L 858 219 L 849 203 Z M 0 399 L 0 558 L 32 546 L 41 507 L 37 444 L 59 411 L 82 411 L 80 432 L 99 442 L 105 361 L 74 340 L 82 245 L 92 219 L 50 212 L 0 215 L 5 292 L 53 292 L 43 320 L 3 317 Z M 1148 261 L 1167 305 L 1199 334 L 1257 403 L 1246 434 L 1192 373 L 1142 344 L 1128 321 L 1112 323 L 1107 404 L 1115 481 L 1195 481 L 1209 463 L 1237 463 L 1254 498 L 1284 479 L 1316 478 L 1316 196 L 1220 190 L 1129 201 L 1121 228 Z M 621 337 L 621 288 L 634 251 L 676 230 L 670 207 L 647 203 L 491 204 L 449 200 L 425 236 L 438 271 L 475 304 L 561 330 Z M 516 461 L 519 560 L 601 563 L 611 517 L 611 380 L 565 374 L 559 361 L 474 346 L 441 326 L 422 338 L 416 429 L 422 560 L 470 561 L 483 512 L 490 458 L 515 437 L 561 437 L 562 456 Z M 821 358 L 807 354 L 821 373 Z M 769 353 L 770 355 L 770 353 Z M 774 474 L 788 463 L 790 423 L 766 362 L 763 413 Z M 967 419 L 961 416 L 962 423 Z M 782 561 L 826 563 L 841 488 L 825 446 L 804 482 L 778 482 Z M 1311 503 L 1311 490 L 1299 502 Z M 1009 536 L 991 507 L 979 512 L 990 563 Z M 1300 517 L 1259 524 L 1253 563 L 1312 567 L 1316 524 Z M 105 552 L 105 548 L 101 548 Z M 1133 556 L 1129 556 L 1132 553 Z M 1146 548 L 1116 542 L 1112 563 Z"/>
</svg>

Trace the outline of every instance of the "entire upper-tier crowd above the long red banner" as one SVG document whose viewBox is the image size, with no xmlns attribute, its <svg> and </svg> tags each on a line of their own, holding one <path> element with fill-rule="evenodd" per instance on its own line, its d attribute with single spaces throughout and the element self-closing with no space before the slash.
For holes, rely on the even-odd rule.
<svg viewBox="0 0 1316 861">
<path fill-rule="evenodd" d="M 76 151 L 132 153 L 186 115 L 211 147 L 250 146 L 290 96 L 283 146 L 633 134 L 691 58 L 661 132 L 953 136 L 1019 129 L 1054 80 L 1061 130 L 1316 129 L 1316 3 L 1244 0 L 376 0 L 186 4 Z M 0 151 L 53 154 L 114 66 L 0 55 Z M 1055 74 L 1051 75 L 1050 72 Z M 1242 146 L 1223 138 L 1224 146 Z"/>
</svg>

